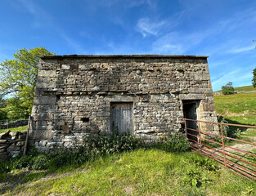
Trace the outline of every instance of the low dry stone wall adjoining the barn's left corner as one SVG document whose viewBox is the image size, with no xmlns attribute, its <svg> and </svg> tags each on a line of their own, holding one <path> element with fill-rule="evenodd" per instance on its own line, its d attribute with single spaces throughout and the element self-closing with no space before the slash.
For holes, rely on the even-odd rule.
<svg viewBox="0 0 256 196">
<path fill-rule="evenodd" d="M 27 131 L 7 131 L 0 134 L 0 161 L 22 154 Z"/>
</svg>

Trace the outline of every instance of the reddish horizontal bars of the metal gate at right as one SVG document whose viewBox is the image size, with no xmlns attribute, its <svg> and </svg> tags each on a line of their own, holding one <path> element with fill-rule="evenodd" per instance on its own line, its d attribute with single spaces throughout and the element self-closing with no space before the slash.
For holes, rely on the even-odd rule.
<svg viewBox="0 0 256 196">
<path fill-rule="evenodd" d="M 187 124 L 188 124 L 187 121 L 197 122 L 198 123 L 197 129 L 187 127 Z M 200 127 L 201 123 L 209 123 L 209 124 L 218 125 L 220 127 L 220 130 L 219 130 L 220 135 L 209 132 L 212 130 L 202 131 L 202 128 Z M 200 154 L 204 154 L 204 155 L 208 156 L 209 158 L 213 158 L 214 160 L 218 161 L 218 163 L 222 163 L 226 167 L 231 168 L 231 170 L 233 170 L 233 171 L 239 172 L 240 174 L 242 174 L 244 176 L 248 176 L 249 178 L 256 180 L 256 164 L 251 163 L 249 161 L 249 159 L 252 160 L 253 158 L 255 158 L 255 161 L 256 161 L 256 154 L 247 152 L 243 149 L 237 149 L 232 146 L 225 145 L 224 139 L 239 141 L 239 142 L 242 142 L 245 144 L 255 145 L 255 146 L 256 146 L 256 144 L 253 142 L 245 141 L 245 140 L 239 140 L 239 139 L 223 136 L 223 129 L 222 129 L 223 125 L 256 129 L 256 126 L 236 125 L 236 124 L 222 123 L 222 122 L 207 122 L 207 121 L 200 121 L 200 120 L 185 118 L 186 137 L 188 140 L 191 141 L 191 149 L 193 151 L 199 152 Z M 192 134 L 190 131 L 196 131 L 198 134 L 196 134 L 196 135 Z M 193 136 L 194 140 L 189 138 L 189 136 Z M 208 136 L 208 139 L 205 138 L 205 136 Z M 221 141 L 221 143 L 216 140 L 213 140 L 213 137 L 211 137 L 211 136 L 214 136 L 215 139 L 220 138 L 221 140 L 218 140 L 218 141 Z M 197 138 L 197 140 L 195 140 L 195 138 Z M 209 142 L 209 144 L 220 145 L 221 149 L 206 145 L 206 144 L 204 144 L 205 141 Z M 232 149 L 235 152 L 231 152 L 228 149 Z M 239 153 L 243 153 L 243 154 L 239 154 Z M 252 156 L 253 158 L 246 157 L 246 154 L 248 154 L 249 156 Z M 237 157 L 237 155 L 239 155 L 240 157 Z M 246 158 L 247 160 L 244 160 L 241 157 Z M 230 158 L 233 158 L 234 160 L 232 160 Z M 241 162 L 241 163 L 238 163 L 238 162 Z"/>
</svg>

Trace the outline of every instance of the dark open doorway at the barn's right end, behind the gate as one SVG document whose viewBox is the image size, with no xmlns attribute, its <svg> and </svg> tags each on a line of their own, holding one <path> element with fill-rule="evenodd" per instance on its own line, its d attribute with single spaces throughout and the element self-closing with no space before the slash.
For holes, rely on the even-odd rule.
<svg viewBox="0 0 256 196">
<path fill-rule="evenodd" d="M 189 118 L 193 120 L 197 120 L 197 113 L 196 110 L 198 108 L 198 105 L 200 103 L 200 100 L 182 100 L 183 103 L 183 114 L 184 118 Z M 186 132 L 195 136 L 191 136 L 187 134 L 187 138 L 191 139 L 191 141 L 198 141 L 198 131 L 193 131 L 191 129 L 197 129 L 197 122 L 195 121 L 186 121 Z"/>
</svg>

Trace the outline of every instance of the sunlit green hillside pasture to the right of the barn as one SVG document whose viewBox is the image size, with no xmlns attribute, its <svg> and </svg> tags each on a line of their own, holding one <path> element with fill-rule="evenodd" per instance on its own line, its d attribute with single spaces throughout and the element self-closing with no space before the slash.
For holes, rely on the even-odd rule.
<svg viewBox="0 0 256 196">
<path fill-rule="evenodd" d="M 256 92 L 214 96 L 218 114 L 230 122 L 256 125 Z"/>
</svg>

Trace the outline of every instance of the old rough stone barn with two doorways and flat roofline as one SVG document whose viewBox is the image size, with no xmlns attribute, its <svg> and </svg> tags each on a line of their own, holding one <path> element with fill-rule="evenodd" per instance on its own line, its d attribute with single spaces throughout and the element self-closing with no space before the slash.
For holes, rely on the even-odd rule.
<svg viewBox="0 0 256 196">
<path fill-rule="evenodd" d="M 29 144 L 71 147 L 102 131 L 155 140 L 184 117 L 217 122 L 207 57 L 43 56 Z"/>
</svg>

